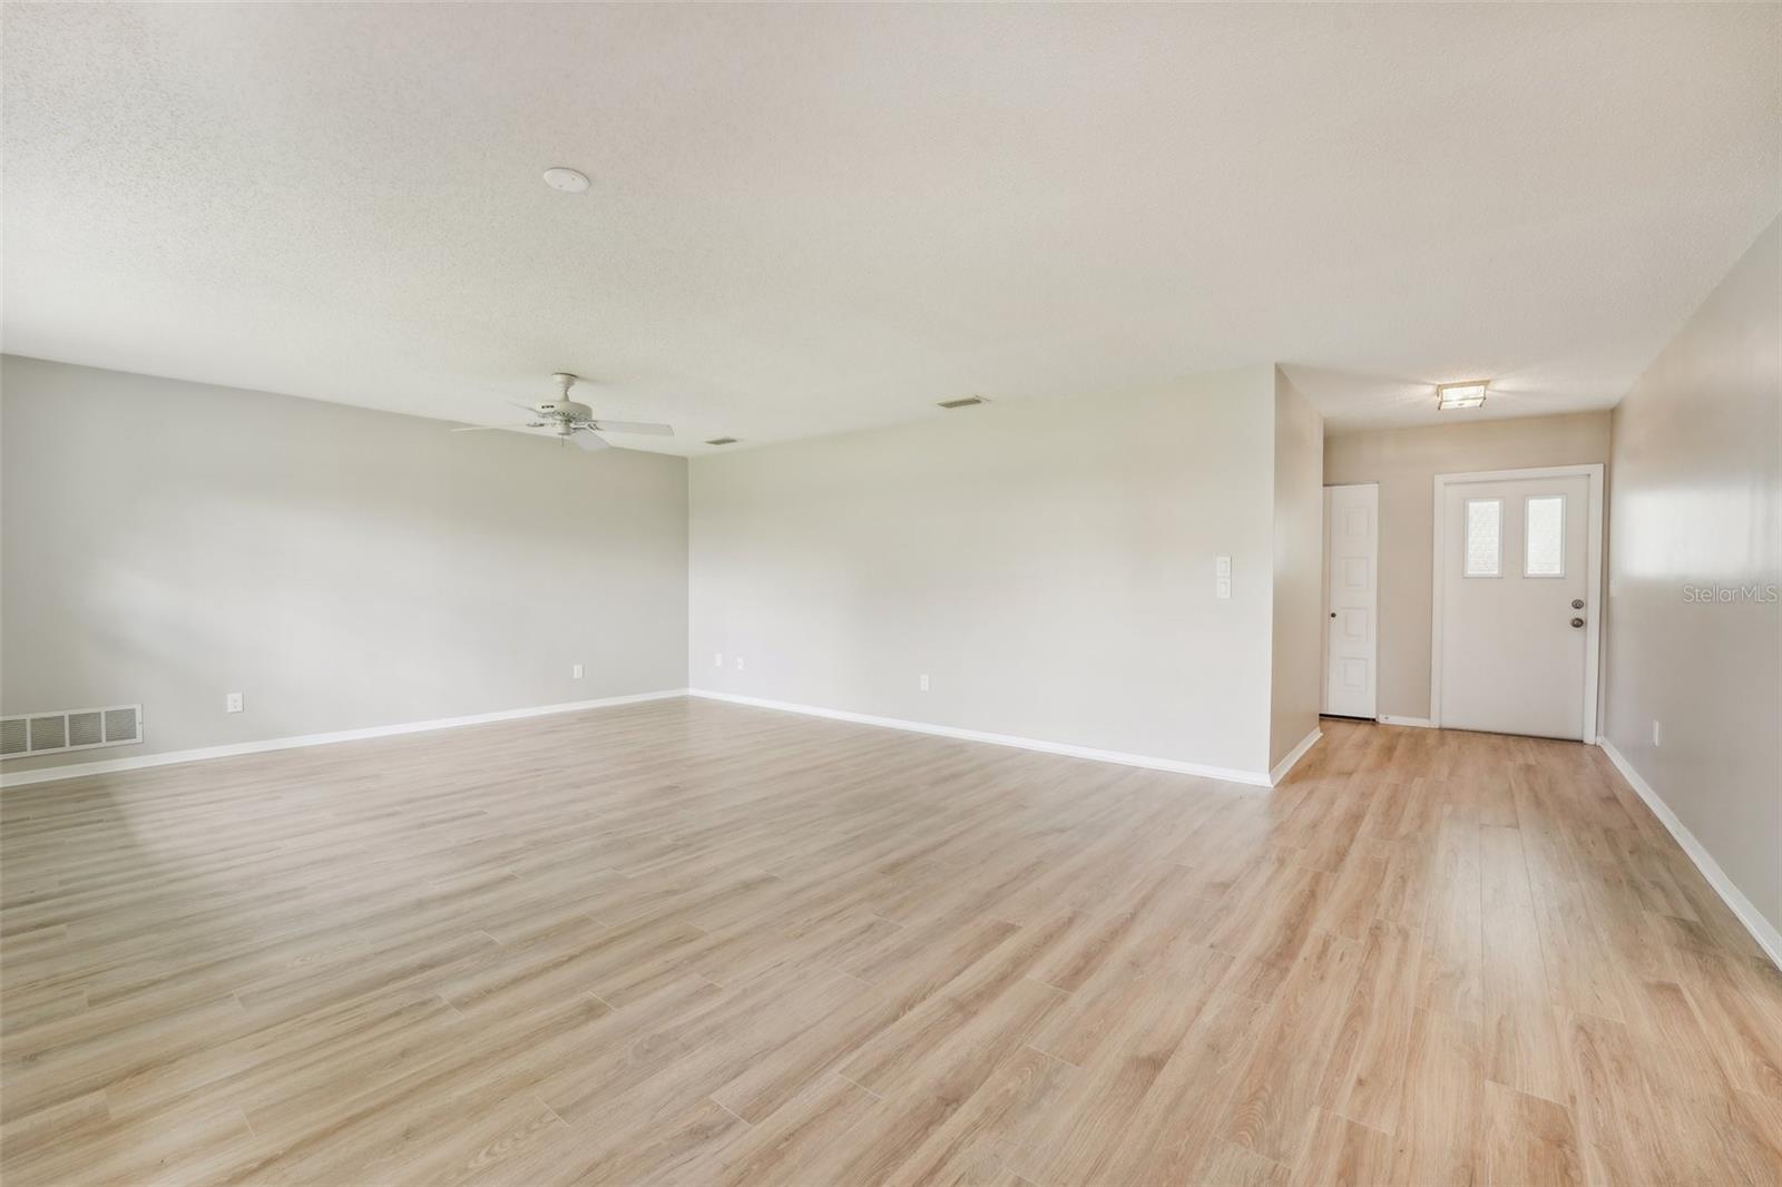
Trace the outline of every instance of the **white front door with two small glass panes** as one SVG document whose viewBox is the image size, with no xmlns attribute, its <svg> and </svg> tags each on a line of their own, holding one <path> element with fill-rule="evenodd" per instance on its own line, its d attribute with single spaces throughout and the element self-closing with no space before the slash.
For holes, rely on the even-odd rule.
<svg viewBox="0 0 1782 1187">
<path fill-rule="evenodd" d="M 1440 487 L 1438 725 L 1595 736 L 1593 724 L 1586 729 L 1593 479 L 1536 474 L 1452 476 Z"/>
</svg>

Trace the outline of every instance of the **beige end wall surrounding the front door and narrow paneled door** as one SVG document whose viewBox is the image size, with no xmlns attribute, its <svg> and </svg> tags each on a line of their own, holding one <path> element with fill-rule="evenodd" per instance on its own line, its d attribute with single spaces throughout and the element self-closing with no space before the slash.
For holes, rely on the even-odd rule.
<svg viewBox="0 0 1782 1187">
<path fill-rule="evenodd" d="M 1465 413 L 1454 413 L 1463 417 Z M 1324 481 L 1379 483 L 1379 713 L 1429 716 L 1435 476 L 1609 460 L 1609 413 L 1458 419 L 1324 442 Z M 1614 476 L 1609 476 L 1614 483 Z"/>
</svg>

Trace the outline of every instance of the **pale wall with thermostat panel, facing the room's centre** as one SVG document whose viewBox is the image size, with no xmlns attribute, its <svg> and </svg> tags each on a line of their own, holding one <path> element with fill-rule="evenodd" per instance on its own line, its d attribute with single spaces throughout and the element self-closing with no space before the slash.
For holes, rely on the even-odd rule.
<svg viewBox="0 0 1782 1187">
<path fill-rule="evenodd" d="M 688 683 L 1263 772 L 1272 458 L 1267 365 L 697 458 Z"/>
</svg>

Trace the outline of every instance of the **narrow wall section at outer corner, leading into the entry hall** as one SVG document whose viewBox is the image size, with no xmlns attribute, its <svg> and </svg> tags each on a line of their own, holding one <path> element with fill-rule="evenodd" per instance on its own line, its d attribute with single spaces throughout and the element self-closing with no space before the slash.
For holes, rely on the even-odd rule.
<svg viewBox="0 0 1782 1187">
<path fill-rule="evenodd" d="M 1269 766 L 1319 725 L 1324 697 L 1324 417 L 1274 369 L 1274 640 Z"/>
</svg>

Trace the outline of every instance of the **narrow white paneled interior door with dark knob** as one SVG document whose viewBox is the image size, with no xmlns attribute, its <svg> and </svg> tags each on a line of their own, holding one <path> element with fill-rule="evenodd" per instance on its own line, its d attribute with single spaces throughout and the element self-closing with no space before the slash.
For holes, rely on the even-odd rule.
<svg viewBox="0 0 1782 1187">
<path fill-rule="evenodd" d="M 1379 487 L 1324 488 L 1324 711 L 1376 716 Z"/>
</svg>

